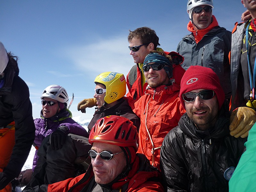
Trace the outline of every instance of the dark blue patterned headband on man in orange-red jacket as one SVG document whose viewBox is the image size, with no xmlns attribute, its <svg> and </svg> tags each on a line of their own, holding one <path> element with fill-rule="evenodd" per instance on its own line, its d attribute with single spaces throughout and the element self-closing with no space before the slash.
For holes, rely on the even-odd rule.
<svg viewBox="0 0 256 192">
<path fill-rule="evenodd" d="M 158 53 L 149 53 L 143 62 L 143 65 L 148 63 L 161 63 L 167 65 L 169 67 L 164 67 L 165 72 L 167 73 L 169 78 L 172 78 L 172 63 L 166 57 L 158 54 Z"/>
</svg>

